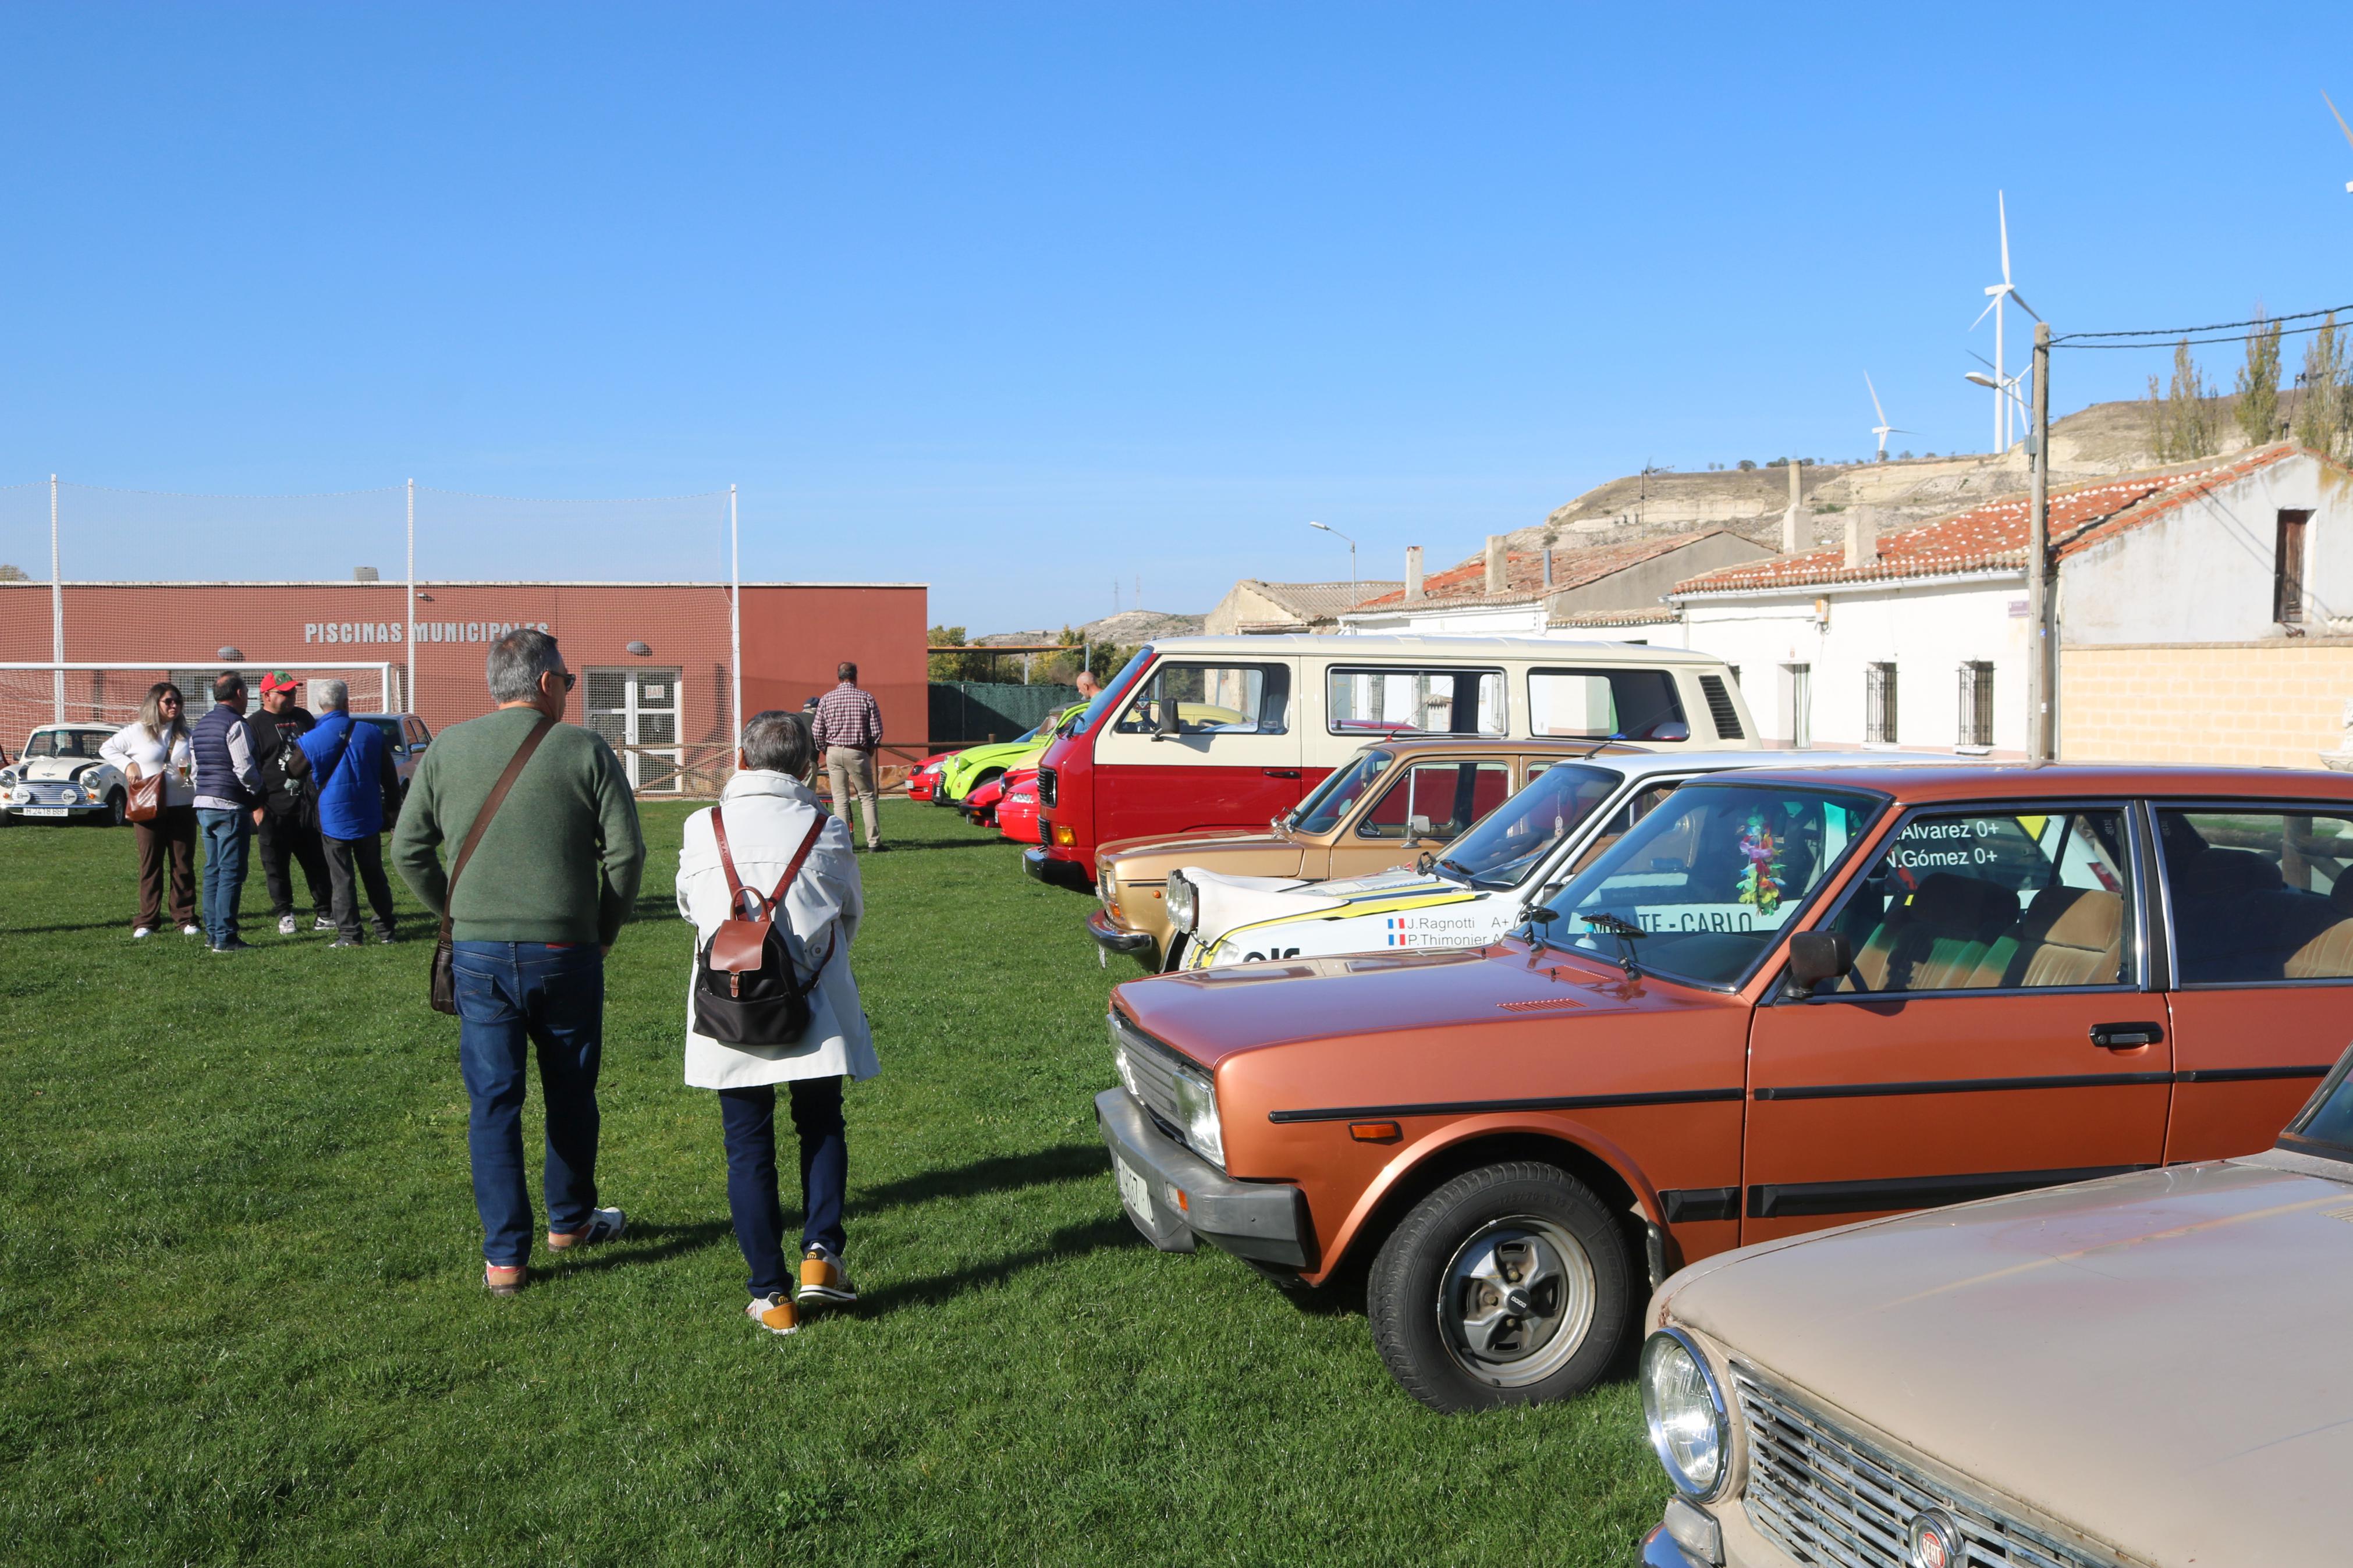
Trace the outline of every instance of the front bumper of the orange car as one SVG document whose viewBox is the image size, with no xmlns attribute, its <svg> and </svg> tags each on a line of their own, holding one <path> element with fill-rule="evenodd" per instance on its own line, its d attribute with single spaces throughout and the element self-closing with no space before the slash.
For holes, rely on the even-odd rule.
<svg viewBox="0 0 2353 1568">
<path fill-rule="evenodd" d="M 1299 1187 L 1233 1180 L 1153 1126 L 1125 1088 L 1094 1095 L 1094 1121 L 1111 1159 L 1141 1178 L 1141 1204 L 1122 1180 L 1120 1208 L 1162 1253 L 1191 1253 L 1200 1239 L 1252 1262 L 1308 1267 L 1308 1204 Z"/>
</svg>

